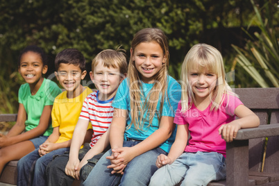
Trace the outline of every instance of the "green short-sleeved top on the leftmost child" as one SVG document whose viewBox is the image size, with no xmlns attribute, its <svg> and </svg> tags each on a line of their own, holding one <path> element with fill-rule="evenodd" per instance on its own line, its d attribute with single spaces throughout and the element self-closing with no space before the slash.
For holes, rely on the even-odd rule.
<svg viewBox="0 0 279 186">
<path fill-rule="evenodd" d="M 42 82 L 40 89 L 35 95 L 31 95 L 31 90 L 28 83 L 19 88 L 19 103 L 24 105 L 27 119 L 25 121 L 25 130 L 31 130 L 39 125 L 40 117 L 44 106 L 53 105 L 53 101 L 62 91 L 60 87 L 53 81 L 45 79 Z M 44 133 L 49 136 L 52 133 L 51 119 L 49 121 L 49 128 Z"/>
</svg>

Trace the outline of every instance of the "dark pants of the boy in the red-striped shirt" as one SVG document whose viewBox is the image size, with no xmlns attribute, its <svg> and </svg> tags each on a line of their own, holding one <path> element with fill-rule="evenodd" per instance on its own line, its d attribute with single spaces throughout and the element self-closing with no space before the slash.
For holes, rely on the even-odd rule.
<svg viewBox="0 0 279 186">
<path fill-rule="evenodd" d="M 78 151 L 78 159 L 82 160 L 85 154 L 90 150 L 90 144 L 85 144 L 83 149 Z M 93 158 L 87 160 L 87 164 L 81 167 L 80 171 L 80 180 L 81 183 L 87 178 L 90 171 L 94 168 L 96 162 L 101 158 L 103 153 L 94 155 Z M 69 152 L 65 152 L 62 155 L 58 155 L 54 160 L 49 163 L 47 167 L 47 185 L 71 185 L 74 181 L 74 178 L 67 176 L 65 174 L 65 167 L 69 160 Z"/>
</svg>

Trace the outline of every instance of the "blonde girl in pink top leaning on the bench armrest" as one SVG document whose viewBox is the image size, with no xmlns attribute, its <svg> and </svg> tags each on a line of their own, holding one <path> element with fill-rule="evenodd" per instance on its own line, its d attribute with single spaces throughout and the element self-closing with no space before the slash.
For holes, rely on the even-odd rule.
<svg viewBox="0 0 279 186">
<path fill-rule="evenodd" d="M 158 156 L 160 169 L 151 186 L 208 185 L 225 179 L 226 142 L 232 142 L 240 128 L 260 124 L 226 83 L 222 56 L 214 47 L 194 45 L 183 62 L 181 80 L 183 94 L 174 118 L 176 140 L 168 155 Z"/>
</svg>

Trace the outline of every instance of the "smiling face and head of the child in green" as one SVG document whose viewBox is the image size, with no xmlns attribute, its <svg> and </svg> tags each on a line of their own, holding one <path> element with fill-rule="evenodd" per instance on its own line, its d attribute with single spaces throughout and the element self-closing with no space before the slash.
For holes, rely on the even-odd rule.
<svg viewBox="0 0 279 186">
<path fill-rule="evenodd" d="M 19 64 L 19 73 L 29 85 L 42 83 L 42 74 L 47 73 L 47 65 L 44 65 L 40 54 L 28 51 L 22 55 Z M 39 83 L 39 84 L 40 84 Z"/>
</svg>

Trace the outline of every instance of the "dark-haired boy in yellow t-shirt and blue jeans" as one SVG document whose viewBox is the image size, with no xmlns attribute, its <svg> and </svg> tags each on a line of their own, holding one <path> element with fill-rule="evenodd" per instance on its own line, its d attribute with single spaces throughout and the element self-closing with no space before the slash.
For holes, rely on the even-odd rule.
<svg viewBox="0 0 279 186">
<path fill-rule="evenodd" d="M 83 87 L 85 78 L 85 58 L 77 49 L 65 49 L 58 53 L 55 60 L 56 78 L 65 92 L 59 94 L 51 111 L 53 133 L 40 145 L 17 163 L 17 185 L 45 185 L 46 167 L 53 155 L 69 151 L 74 128 L 81 113 L 83 101 L 92 93 L 89 87 Z M 87 126 L 87 135 L 92 135 L 91 124 Z M 85 137 L 88 138 L 88 137 Z"/>
</svg>

